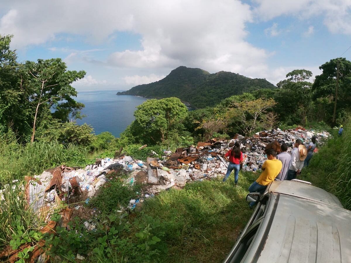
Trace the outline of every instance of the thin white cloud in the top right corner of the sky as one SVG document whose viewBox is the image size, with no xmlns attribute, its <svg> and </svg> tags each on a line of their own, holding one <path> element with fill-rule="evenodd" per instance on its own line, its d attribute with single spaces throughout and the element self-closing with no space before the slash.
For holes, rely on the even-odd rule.
<svg viewBox="0 0 351 263">
<path fill-rule="evenodd" d="M 271 20 L 281 15 L 294 15 L 299 19 L 309 19 L 322 15 L 324 25 L 332 33 L 351 34 L 350 0 L 255 0 L 256 16 Z"/>
</svg>

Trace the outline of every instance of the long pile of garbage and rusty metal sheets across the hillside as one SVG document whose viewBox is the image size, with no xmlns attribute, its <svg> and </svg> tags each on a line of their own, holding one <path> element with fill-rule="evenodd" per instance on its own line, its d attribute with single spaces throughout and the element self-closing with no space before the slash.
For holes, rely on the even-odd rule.
<svg viewBox="0 0 351 263">
<path fill-rule="evenodd" d="M 90 199 L 102 185 L 112 179 L 113 173 L 122 169 L 130 173 L 126 184 L 143 184 L 140 198 L 148 198 L 161 190 L 184 187 L 190 181 L 211 180 L 225 175 L 228 162 L 224 160 L 224 155 L 236 141 L 239 141 L 241 151 L 247 157 L 242 169 L 257 171 L 266 160 L 264 149 L 267 144 L 276 142 L 279 146 L 286 143 L 290 153 L 297 139 L 302 139 L 307 146 L 312 136 L 316 136 L 317 144 L 321 145 L 330 134 L 326 131 L 317 133 L 302 127 L 285 131 L 274 129 L 256 133 L 252 137 L 237 134 L 231 140 L 212 139 L 198 142 L 196 147 L 178 148 L 175 153 L 165 150 L 164 156 L 152 152 L 152 157 L 147 157 L 146 162 L 121 154 L 114 159 L 97 159 L 85 168 L 56 167 L 41 175 L 26 177 L 26 196 L 35 211 L 51 208 L 58 200 L 72 203 L 75 197 L 82 194 Z M 131 208 L 135 202 L 131 202 Z"/>
</svg>

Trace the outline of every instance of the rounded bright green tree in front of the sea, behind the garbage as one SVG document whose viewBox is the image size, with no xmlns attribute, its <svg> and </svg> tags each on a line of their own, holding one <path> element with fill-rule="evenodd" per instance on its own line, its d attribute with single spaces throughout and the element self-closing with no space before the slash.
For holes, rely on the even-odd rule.
<svg viewBox="0 0 351 263">
<path fill-rule="evenodd" d="M 186 106 L 176 97 L 147 100 L 137 106 L 135 121 L 143 129 L 142 134 L 154 142 L 168 138 L 172 125 L 184 119 L 188 113 Z"/>
</svg>

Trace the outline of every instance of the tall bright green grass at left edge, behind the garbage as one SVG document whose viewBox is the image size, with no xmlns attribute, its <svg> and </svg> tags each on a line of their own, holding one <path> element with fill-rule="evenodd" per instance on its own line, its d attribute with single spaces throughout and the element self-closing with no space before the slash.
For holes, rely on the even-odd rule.
<svg viewBox="0 0 351 263">
<path fill-rule="evenodd" d="M 87 160 L 86 148 L 57 141 L 19 144 L 9 135 L 0 136 L 0 182 L 40 174 L 43 170 L 66 164 L 82 166 Z"/>
</svg>

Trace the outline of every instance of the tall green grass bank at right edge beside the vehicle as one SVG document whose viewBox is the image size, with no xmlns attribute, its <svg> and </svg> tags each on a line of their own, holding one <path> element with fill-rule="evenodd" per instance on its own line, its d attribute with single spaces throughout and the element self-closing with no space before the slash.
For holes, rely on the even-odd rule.
<svg viewBox="0 0 351 263">
<path fill-rule="evenodd" d="M 336 195 L 344 208 L 351 210 L 351 121 L 347 121 L 340 137 L 337 130 L 318 154 L 314 154 L 310 166 L 302 171 L 303 180 Z"/>
</svg>

